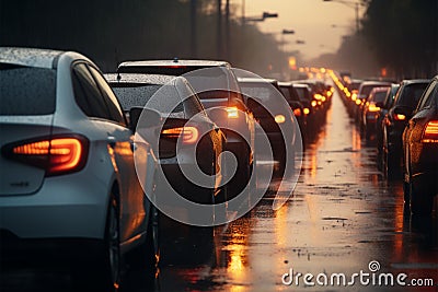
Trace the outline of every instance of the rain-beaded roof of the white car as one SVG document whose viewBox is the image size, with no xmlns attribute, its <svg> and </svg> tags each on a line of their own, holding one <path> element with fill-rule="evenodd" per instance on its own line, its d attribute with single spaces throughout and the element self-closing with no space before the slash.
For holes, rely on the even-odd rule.
<svg viewBox="0 0 438 292">
<path fill-rule="evenodd" d="M 0 62 L 51 69 L 62 54 L 53 49 L 0 47 Z"/>
</svg>

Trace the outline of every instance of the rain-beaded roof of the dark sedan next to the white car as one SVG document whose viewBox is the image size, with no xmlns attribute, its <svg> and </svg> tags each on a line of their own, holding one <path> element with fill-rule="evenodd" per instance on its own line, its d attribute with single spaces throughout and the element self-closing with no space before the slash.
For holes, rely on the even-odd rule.
<svg viewBox="0 0 438 292">
<path fill-rule="evenodd" d="M 157 84 L 164 85 L 175 81 L 176 79 L 184 79 L 183 77 L 162 75 L 162 74 L 141 74 L 141 73 L 107 73 L 104 74 L 106 81 L 110 83 L 126 82 L 126 83 L 140 83 L 140 84 Z"/>
</svg>

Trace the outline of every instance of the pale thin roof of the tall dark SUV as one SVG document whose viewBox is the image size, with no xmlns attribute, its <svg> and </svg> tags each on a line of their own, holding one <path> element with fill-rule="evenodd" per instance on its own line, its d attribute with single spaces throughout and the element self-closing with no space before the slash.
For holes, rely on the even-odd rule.
<svg viewBox="0 0 438 292">
<path fill-rule="evenodd" d="M 124 61 L 118 67 L 138 67 L 138 66 L 186 66 L 186 67 L 230 67 L 227 61 L 219 60 L 195 60 L 195 59 L 173 59 L 173 60 L 139 60 Z"/>
</svg>

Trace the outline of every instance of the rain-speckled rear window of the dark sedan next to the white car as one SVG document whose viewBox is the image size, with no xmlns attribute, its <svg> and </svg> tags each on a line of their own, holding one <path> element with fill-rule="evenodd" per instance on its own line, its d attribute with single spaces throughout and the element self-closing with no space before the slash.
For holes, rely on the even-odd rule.
<svg viewBox="0 0 438 292">
<path fill-rule="evenodd" d="M 148 108 L 163 114 L 184 112 L 181 97 L 173 85 L 137 83 L 111 83 L 110 85 L 120 101 L 124 110 L 148 104 Z"/>
</svg>

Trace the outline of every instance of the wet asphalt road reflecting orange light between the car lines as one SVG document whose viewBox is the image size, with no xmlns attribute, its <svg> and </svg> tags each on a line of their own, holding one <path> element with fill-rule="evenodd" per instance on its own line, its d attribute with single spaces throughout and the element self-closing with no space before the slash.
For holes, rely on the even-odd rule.
<svg viewBox="0 0 438 292">
<path fill-rule="evenodd" d="M 172 240 L 163 234 L 158 278 L 128 272 L 122 291 L 438 291 L 437 214 L 408 215 L 401 183 L 384 180 L 374 147 L 361 139 L 337 94 L 324 125 L 306 144 L 302 174 L 281 209 L 273 211 L 267 195 L 245 217 L 217 227 L 214 241 L 199 241 L 201 231 L 192 240 L 184 231 Z M 371 261 L 380 269 L 371 271 Z M 291 271 L 293 280 L 313 275 L 308 282 L 315 284 L 303 277 L 290 283 L 285 273 Z M 360 271 L 369 273 L 365 283 L 357 276 L 348 285 Z M 324 282 L 321 273 L 327 285 L 316 282 Z M 330 285 L 334 273 L 344 273 L 347 285 L 337 278 Z M 407 275 L 406 287 L 379 287 L 381 273 Z M 412 279 L 433 279 L 434 287 L 418 289 Z M 1 280 L 0 291 L 70 291 L 68 276 L 46 270 L 2 272 Z"/>
</svg>

